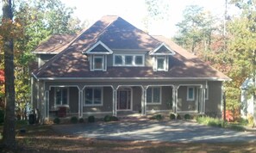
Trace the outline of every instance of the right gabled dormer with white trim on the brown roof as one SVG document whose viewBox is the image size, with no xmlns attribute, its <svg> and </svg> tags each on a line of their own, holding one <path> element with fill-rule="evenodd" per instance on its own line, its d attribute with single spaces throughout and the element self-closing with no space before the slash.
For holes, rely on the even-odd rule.
<svg viewBox="0 0 256 153">
<path fill-rule="evenodd" d="M 168 71 L 169 70 L 169 56 L 175 55 L 165 43 L 149 52 L 149 55 L 153 57 L 153 71 Z"/>
</svg>

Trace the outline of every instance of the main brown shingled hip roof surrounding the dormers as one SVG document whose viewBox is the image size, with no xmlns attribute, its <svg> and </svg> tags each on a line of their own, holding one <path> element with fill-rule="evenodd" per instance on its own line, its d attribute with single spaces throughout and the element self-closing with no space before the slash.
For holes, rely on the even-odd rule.
<svg viewBox="0 0 256 153">
<path fill-rule="evenodd" d="M 143 50 L 153 51 L 165 42 L 174 52 L 170 58 L 170 70 L 153 71 L 152 67 L 108 67 L 107 71 L 90 71 L 89 61 L 82 52 L 102 41 L 111 50 Z M 34 71 L 38 78 L 100 78 L 100 77 L 130 77 L 130 78 L 216 78 L 228 80 L 218 70 L 204 64 L 196 56 L 185 51 L 171 40 L 163 37 L 154 38 L 144 33 L 118 16 L 103 16 L 83 33 L 79 34 L 72 43 L 66 46 L 54 58 L 51 58 L 40 69 Z"/>
</svg>

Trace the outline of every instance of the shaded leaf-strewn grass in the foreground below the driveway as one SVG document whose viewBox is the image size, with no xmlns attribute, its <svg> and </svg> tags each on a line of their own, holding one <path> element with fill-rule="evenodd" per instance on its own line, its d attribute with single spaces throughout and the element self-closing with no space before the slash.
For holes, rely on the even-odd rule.
<svg viewBox="0 0 256 153">
<path fill-rule="evenodd" d="M 52 125 L 27 125 L 17 123 L 17 127 L 26 128 L 19 133 L 17 128 L 16 150 L 13 152 L 256 152 L 256 143 L 165 143 L 158 141 L 120 141 L 78 138 L 59 135 Z M 0 126 L 2 130 L 3 126 Z M 3 152 L 9 150 L 1 149 Z M 9 151 L 9 152 L 11 152 Z M 1 152 L 1 151 L 0 151 Z"/>
</svg>

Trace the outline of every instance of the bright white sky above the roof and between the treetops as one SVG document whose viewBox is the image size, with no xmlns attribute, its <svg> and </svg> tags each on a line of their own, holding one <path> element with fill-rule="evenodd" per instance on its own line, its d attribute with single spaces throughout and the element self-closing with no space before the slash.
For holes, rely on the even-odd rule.
<svg viewBox="0 0 256 153">
<path fill-rule="evenodd" d="M 75 7 L 74 15 L 81 21 L 93 24 L 103 15 L 118 15 L 149 34 L 171 38 L 177 33 L 176 24 L 182 21 L 182 13 L 187 5 L 196 4 L 219 17 L 224 15 L 225 0 L 164 0 L 169 3 L 168 19 L 153 21 L 147 29 L 143 21 L 147 16 L 144 0 L 61 0 L 67 7 Z M 229 7 L 228 7 L 229 9 Z"/>
</svg>

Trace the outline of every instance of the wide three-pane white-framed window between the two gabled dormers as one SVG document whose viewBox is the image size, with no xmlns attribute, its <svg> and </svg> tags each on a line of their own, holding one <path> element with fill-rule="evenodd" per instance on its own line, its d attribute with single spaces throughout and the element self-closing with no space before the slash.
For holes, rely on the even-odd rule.
<svg viewBox="0 0 256 153">
<path fill-rule="evenodd" d="M 144 55 L 116 54 L 114 66 L 144 66 Z"/>
</svg>

